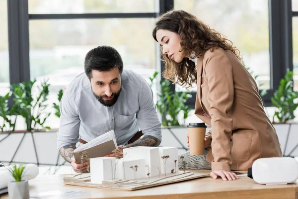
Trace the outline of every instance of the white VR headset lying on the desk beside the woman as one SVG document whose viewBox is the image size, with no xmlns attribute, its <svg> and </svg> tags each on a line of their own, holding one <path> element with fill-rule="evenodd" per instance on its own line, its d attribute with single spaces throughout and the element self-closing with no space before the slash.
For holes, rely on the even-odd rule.
<svg viewBox="0 0 298 199">
<path fill-rule="evenodd" d="M 259 184 L 286 185 L 298 179 L 298 162 L 294 158 L 260 158 L 248 169 L 247 176 Z"/>
</svg>

